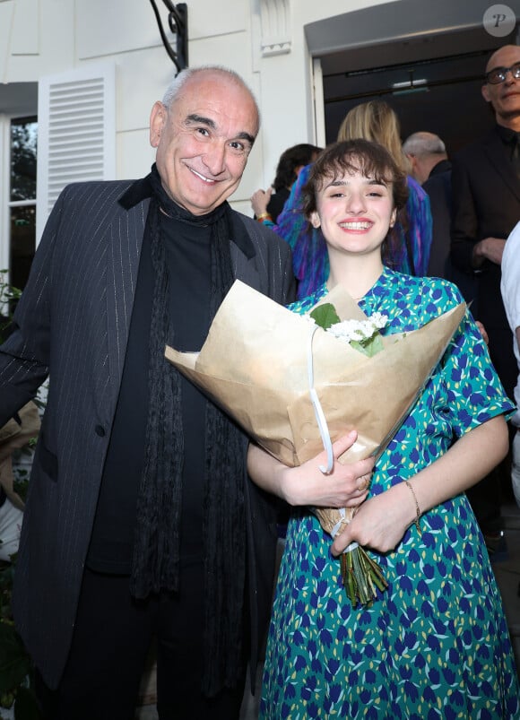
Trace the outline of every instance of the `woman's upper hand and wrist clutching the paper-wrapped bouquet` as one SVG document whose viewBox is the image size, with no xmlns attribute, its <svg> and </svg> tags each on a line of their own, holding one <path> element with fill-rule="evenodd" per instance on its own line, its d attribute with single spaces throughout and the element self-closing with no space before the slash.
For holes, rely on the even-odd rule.
<svg viewBox="0 0 520 720">
<path fill-rule="evenodd" d="M 326 452 L 321 452 L 307 463 L 288 467 L 250 444 L 247 469 L 257 485 L 268 490 L 293 506 L 356 507 L 368 494 L 374 458 L 356 463 L 342 464 L 338 458 L 356 441 L 352 430 L 333 445 L 334 465 L 331 473 L 324 474 L 319 465 L 326 464 Z"/>
</svg>

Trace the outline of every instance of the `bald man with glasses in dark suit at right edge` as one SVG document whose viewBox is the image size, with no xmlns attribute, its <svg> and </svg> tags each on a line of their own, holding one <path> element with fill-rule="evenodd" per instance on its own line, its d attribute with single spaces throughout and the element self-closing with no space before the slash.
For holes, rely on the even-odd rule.
<svg viewBox="0 0 520 720">
<path fill-rule="evenodd" d="M 482 96 L 496 124 L 481 140 L 455 154 L 452 167 L 451 256 L 476 278 L 477 319 L 490 338 L 490 355 L 512 399 L 517 367 L 500 294 L 500 265 L 507 236 L 520 220 L 520 47 L 498 48 L 486 65 Z M 473 509 L 490 549 L 499 539 L 500 486 L 509 468 L 476 486 Z"/>
</svg>

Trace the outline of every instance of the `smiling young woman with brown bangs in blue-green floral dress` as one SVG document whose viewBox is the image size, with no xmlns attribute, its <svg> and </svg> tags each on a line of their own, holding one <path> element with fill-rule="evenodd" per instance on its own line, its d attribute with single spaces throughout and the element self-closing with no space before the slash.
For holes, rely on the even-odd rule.
<svg viewBox="0 0 520 720">
<path fill-rule="evenodd" d="M 384 267 L 406 180 L 386 150 L 336 143 L 304 189 L 329 282 L 290 306 L 306 313 L 342 283 L 383 334 L 407 333 L 462 302 L 455 285 Z M 381 403 L 385 398 L 381 398 Z M 498 586 L 464 490 L 507 453 L 513 409 L 469 311 L 410 414 L 374 465 L 368 496 L 334 542 L 297 507 L 287 528 L 264 664 L 260 716 L 518 717 L 515 659 Z M 458 438 L 453 442 L 453 438 Z M 253 479 L 270 488 L 290 469 L 251 446 Z M 308 478 L 302 478 L 302 483 Z M 327 483 L 324 477 L 322 482 Z M 271 489 L 272 489 L 271 485 Z M 337 557 L 370 549 L 388 587 L 353 607 Z"/>
</svg>

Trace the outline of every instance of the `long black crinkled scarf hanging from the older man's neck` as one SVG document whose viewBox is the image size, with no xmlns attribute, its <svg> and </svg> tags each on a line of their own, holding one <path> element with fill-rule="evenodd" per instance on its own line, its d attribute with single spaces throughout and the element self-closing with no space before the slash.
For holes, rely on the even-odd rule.
<svg viewBox="0 0 520 720">
<path fill-rule="evenodd" d="M 191 225 L 211 225 L 210 317 L 234 280 L 230 257 L 230 206 L 195 216 L 166 194 L 155 165 L 150 176 L 148 213 L 154 272 L 150 332 L 150 407 L 146 426 L 143 478 L 137 523 L 131 591 L 145 598 L 179 589 L 180 516 L 182 512 L 183 427 L 178 371 L 164 357 L 175 347 L 169 325 L 169 276 L 161 237 L 160 213 Z M 236 685 L 246 568 L 243 434 L 211 402 L 205 415 L 204 526 L 204 693 Z"/>
</svg>

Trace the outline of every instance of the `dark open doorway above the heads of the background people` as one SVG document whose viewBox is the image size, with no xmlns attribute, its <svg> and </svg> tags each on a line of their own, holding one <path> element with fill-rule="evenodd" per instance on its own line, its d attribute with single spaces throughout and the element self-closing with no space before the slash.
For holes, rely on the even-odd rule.
<svg viewBox="0 0 520 720">
<path fill-rule="evenodd" d="M 516 44 L 517 27 L 497 38 L 484 29 L 489 0 L 398 0 L 306 27 L 322 65 L 326 142 L 367 100 L 397 112 L 403 140 L 418 130 L 442 137 L 448 152 L 481 136 L 493 115 L 481 97 L 490 53 Z M 508 0 L 519 20 L 519 0 Z"/>
</svg>

